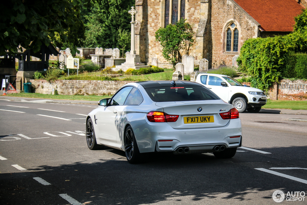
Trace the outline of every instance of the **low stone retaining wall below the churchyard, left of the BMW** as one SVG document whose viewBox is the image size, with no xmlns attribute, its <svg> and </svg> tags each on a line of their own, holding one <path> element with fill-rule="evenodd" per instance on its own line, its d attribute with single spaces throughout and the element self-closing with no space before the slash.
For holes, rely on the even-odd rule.
<svg viewBox="0 0 307 205">
<path fill-rule="evenodd" d="M 114 94 L 127 83 L 135 81 L 79 81 L 79 80 L 57 80 L 49 82 L 46 80 L 30 80 L 35 85 L 35 93 L 51 94 L 56 89 L 60 95 L 105 95 Z"/>
</svg>

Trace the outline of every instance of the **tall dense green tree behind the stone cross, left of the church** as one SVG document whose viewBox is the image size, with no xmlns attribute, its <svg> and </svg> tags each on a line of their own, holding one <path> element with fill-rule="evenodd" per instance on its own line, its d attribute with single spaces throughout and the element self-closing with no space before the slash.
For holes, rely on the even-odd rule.
<svg viewBox="0 0 307 205">
<path fill-rule="evenodd" d="M 119 29 L 130 30 L 131 15 L 128 11 L 134 0 L 101 0 L 90 9 L 84 9 L 84 47 L 119 47 Z"/>
</svg>

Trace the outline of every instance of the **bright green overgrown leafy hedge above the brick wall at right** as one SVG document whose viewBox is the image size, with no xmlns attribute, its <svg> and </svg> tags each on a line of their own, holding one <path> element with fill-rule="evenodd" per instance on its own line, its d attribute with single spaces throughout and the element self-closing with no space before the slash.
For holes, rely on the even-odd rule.
<svg viewBox="0 0 307 205">
<path fill-rule="evenodd" d="M 291 53 L 299 52 L 307 52 L 307 38 L 304 34 L 251 38 L 242 45 L 237 62 L 241 71 L 252 76 L 252 87 L 268 91 L 285 72 L 289 75 L 297 73 L 291 70 L 293 62 L 289 62 L 289 59 Z M 302 68 L 302 63 L 299 67 Z"/>
</svg>

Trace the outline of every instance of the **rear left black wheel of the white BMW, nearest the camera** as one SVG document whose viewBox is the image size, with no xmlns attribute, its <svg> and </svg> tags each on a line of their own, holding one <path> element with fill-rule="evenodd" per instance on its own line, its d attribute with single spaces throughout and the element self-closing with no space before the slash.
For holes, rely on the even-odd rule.
<svg viewBox="0 0 307 205">
<path fill-rule="evenodd" d="M 127 161 L 130 164 L 141 163 L 142 162 L 141 154 L 138 149 L 138 144 L 136 143 L 132 127 L 130 125 L 125 130 L 124 145 L 125 145 L 125 155 Z"/>
</svg>

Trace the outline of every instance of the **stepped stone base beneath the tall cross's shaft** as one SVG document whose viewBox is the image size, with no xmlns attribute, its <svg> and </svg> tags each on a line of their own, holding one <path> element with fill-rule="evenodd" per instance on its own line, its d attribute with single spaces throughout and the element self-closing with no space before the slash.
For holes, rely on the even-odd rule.
<svg viewBox="0 0 307 205">
<path fill-rule="evenodd" d="M 150 65 L 145 65 L 140 61 L 140 57 L 137 54 L 130 54 L 130 52 L 126 52 L 126 62 L 122 63 L 122 65 L 116 65 L 113 70 L 117 71 L 122 69 L 122 71 L 126 71 L 129 68 L 132 69 L 140 69 L 140 68 L 150 68 Z"/>
</svg>

